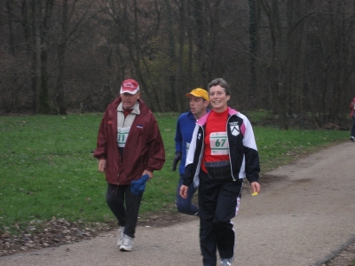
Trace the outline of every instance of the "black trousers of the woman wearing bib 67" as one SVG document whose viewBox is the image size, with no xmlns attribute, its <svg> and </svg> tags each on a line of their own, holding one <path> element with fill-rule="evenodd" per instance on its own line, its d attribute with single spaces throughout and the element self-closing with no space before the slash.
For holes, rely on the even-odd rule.
<svg viewBox="0 0 355 266">
<path fill-rule="evenodd" d="M 222 259 L 234 255 L 235 234 L 231 219 L 237 215 L 242 181 L 211 180 L 200 172 L 199 207 L 200 245 L 203 265 L 217 263 L 217 250 Z"/>
</svg>

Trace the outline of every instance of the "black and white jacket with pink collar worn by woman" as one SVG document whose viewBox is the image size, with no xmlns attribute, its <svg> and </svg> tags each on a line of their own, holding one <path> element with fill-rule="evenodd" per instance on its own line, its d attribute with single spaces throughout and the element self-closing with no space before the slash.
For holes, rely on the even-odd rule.
<svg viewBox="0 0 355 266">
<path fill-rule="evenodd" d="M 200 184 L 199 173 L 204 151 L 204 131 L 209 113 L 196 122 L 193 129 L 193 139 L 187 154 L 183 184 L 195 187 Z M 260 164 L 256 148 L 254 132 L 248 118 L 238 111 L 228 107 L 228 120 L 225 125 L 229 143 L 229 160 L 233 181 L 243 182 L 247 177 L 248 182 L 258 182 Z"/>
</svg>

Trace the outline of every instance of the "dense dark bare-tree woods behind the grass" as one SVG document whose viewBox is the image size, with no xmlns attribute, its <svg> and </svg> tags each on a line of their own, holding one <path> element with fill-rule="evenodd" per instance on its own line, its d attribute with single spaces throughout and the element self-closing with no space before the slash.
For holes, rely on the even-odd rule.
<svg viewBox="0 0 355 266">
<path fill-rule="evenodd" d="M 134 78 L 154 112 L 223 77 L 231 105 L 342 126 L 355 0 L 0 0 L 0 113 L 102 112 Z"/>
</svg>

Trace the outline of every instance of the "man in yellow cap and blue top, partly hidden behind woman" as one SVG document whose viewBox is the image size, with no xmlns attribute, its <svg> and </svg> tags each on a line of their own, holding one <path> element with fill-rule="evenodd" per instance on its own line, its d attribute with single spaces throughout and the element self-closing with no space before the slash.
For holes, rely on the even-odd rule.
<svg viewBox="0 0 355 266">
<path fill-rule="evenodd" d="M 175 158 L 172 163 L 172 170 L 175 171 L 177 163 L 180 161 L 178 168 L 180 178 L 177 183 L 177 195 L 175 204 L 180 213 L 186 215 L 199 215 L 199 207 L 192 203 L 193 194 L 196 192 L 197 187 L 190 184 L 187 191 L 187 198 L 184 199 L 180 196 L 180 187 L 183 184 L 182 177 L 185 171 L 185 161 L 188 148 L 193 138 L 193 129 L 196 125 L 196 120 L 205 115 L 209 106 L 209 93 L 207 90 L 201 88 L 193 89 L 185 94 L 189 99 L 190 111 L 182 113 L 177 119 L 177 131 L 175 135 Z"/>
</svg>

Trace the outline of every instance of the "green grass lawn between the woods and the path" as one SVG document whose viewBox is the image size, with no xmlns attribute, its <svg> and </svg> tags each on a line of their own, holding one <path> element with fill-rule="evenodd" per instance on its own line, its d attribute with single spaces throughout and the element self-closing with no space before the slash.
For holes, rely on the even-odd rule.
<svg viewBox="0 0 355 266">
<path fill-rule="evenodd" d="M 92 156 L 102 113 L 67 116 L 0 117 L 0 232 L 26 228 L 54 216 L 69 222 L 112 223 L 106 181 Z M 177 113 L 155 114 L 166 163 L 146 185 L 140 216 L 174 209 L 178 173 L 175 154 Z M 262 172 L 349 137 L 347 131 L 254 128 Z M 262 181 L 261 181 L 262 183 Z"/>
</svg>

